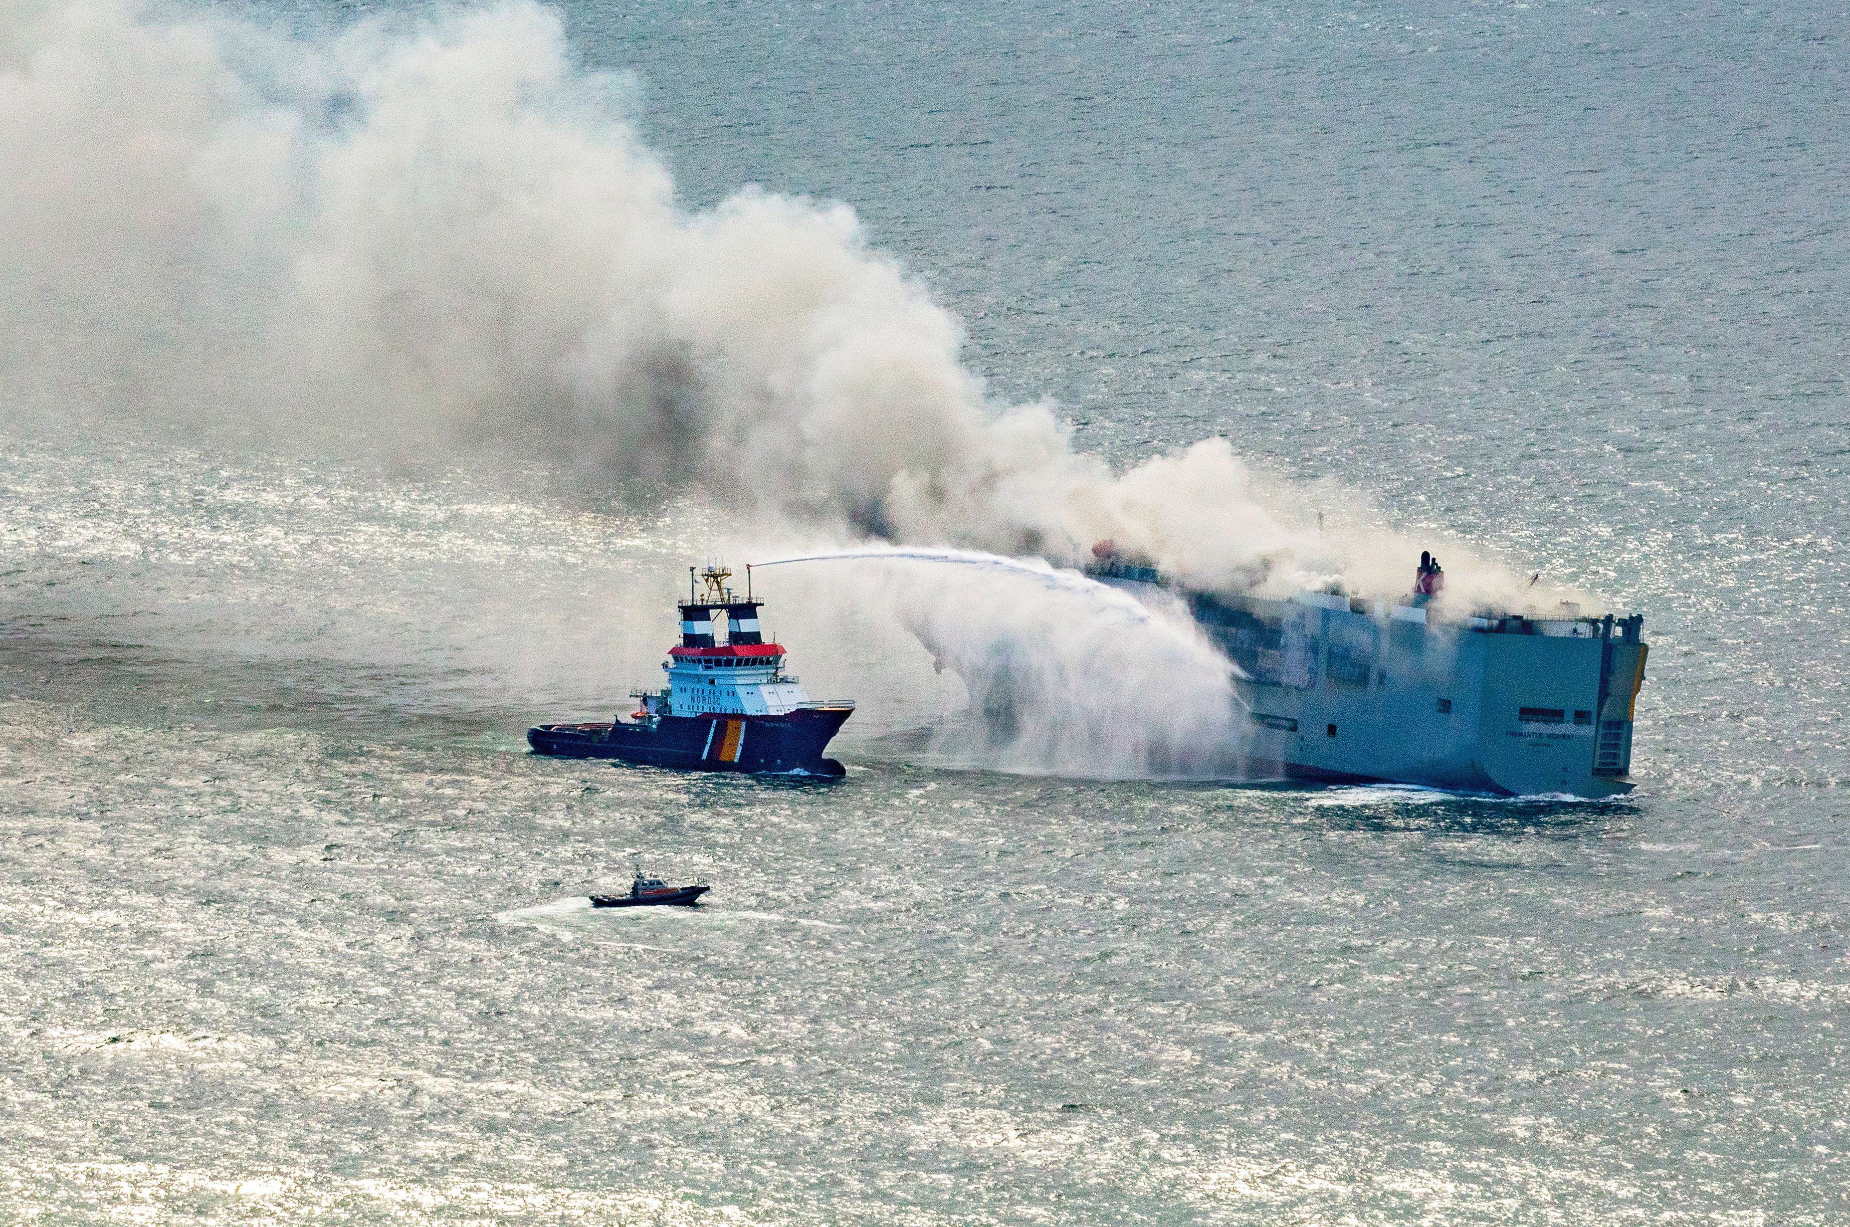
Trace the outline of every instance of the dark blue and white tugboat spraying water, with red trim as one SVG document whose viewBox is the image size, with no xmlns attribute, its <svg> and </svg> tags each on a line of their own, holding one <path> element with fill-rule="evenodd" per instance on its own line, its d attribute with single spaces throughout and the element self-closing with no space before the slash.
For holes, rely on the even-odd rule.
<svg viewBox="0 0 1850 1227">
<path fill-rule="evenodd" d="M 746 568 L 740 600 L 725 581 L 733 572 L 688 568 L 681 601 L 681 644 L 670 648 L 662 690 L 631 690 L 640 707 L 625 722 L 542 724 L 527 729 L 535 753 L 562 759 L 622 759 L 688 772 L 844 775 L 821 757 L 829 738 L 855 714 L 853 700 L 810 701 L 783 672 L 784 650 L 764 642 Z M 716 616 L 725 642 L 716 642 Z"/>
</svg>

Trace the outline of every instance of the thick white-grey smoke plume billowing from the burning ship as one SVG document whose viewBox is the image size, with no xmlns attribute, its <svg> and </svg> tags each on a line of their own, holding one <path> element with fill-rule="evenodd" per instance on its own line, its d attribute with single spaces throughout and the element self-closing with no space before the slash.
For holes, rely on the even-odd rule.
<svg viewBox="0 0 1850 1227">
<path fill-rule="evenodd" d="M 0 7 L 0 409 L 844 537 L 1053 561 L 1112 539 L 1202 587 L 1408 587 L 1413 546 L 1317 533 L 1227 440 L 1114 474 L 1047 405 L 992 403 L 847 207 L 684 211 L 622 96 L 531 4 L 320 37 Z M 1447 561 L 1454 596 L 1513 594 Z"/>
</svg>

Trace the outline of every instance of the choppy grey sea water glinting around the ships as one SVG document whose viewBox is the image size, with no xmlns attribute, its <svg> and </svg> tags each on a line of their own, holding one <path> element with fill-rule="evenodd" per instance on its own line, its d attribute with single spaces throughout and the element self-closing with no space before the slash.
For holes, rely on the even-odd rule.
<svg viewBox="0 0 1850 1227">
<path fill-rule="evenodd" d="M 1641 609 L 1641 787 L 923 766 L 877 735 L 955 690 L 794 576 L 845 781 L 540 761 L 697 526 L 20 442 L 0 1214 L 1850 1218 L 1839 7 L 568 26 L 690 200 L 851 202 L 1086 446 L 1221 431 Z M 633 855 L 710 907 L 588 911 Z"/>
</svg>

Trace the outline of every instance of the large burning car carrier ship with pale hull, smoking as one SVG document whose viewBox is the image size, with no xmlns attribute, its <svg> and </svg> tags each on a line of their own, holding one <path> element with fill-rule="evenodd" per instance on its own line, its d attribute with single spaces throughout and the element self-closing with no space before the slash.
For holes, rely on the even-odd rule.
<svg viewBox="0 0 1850 1227">
<path fill-rule="evenodd" d="M 1151 603 L 1180 600 L 1238 666 L 1254 775 L 1504 796 L 1632 788 L 1643 614 L 1563 603 L 1449 620 L 1424 596 L 1195 592 L 1110 542 L 1093 553 L 1086 574 Z"/>
</svg>

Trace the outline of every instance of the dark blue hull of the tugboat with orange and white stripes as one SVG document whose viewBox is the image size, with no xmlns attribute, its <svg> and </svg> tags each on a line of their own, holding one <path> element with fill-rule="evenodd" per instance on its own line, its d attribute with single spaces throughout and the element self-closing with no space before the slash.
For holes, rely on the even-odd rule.
<svg viewBox="0 0 1850 1227">
<path fill-rule="evenodd" d="M 799 707 L 781 716 L 660 716 L 653 724 L 542 724 L 527 729 L 535 753 L 616 759 L 683 772 L 842 775 L 821 757 L 853 707 Z"/>
</svg>

